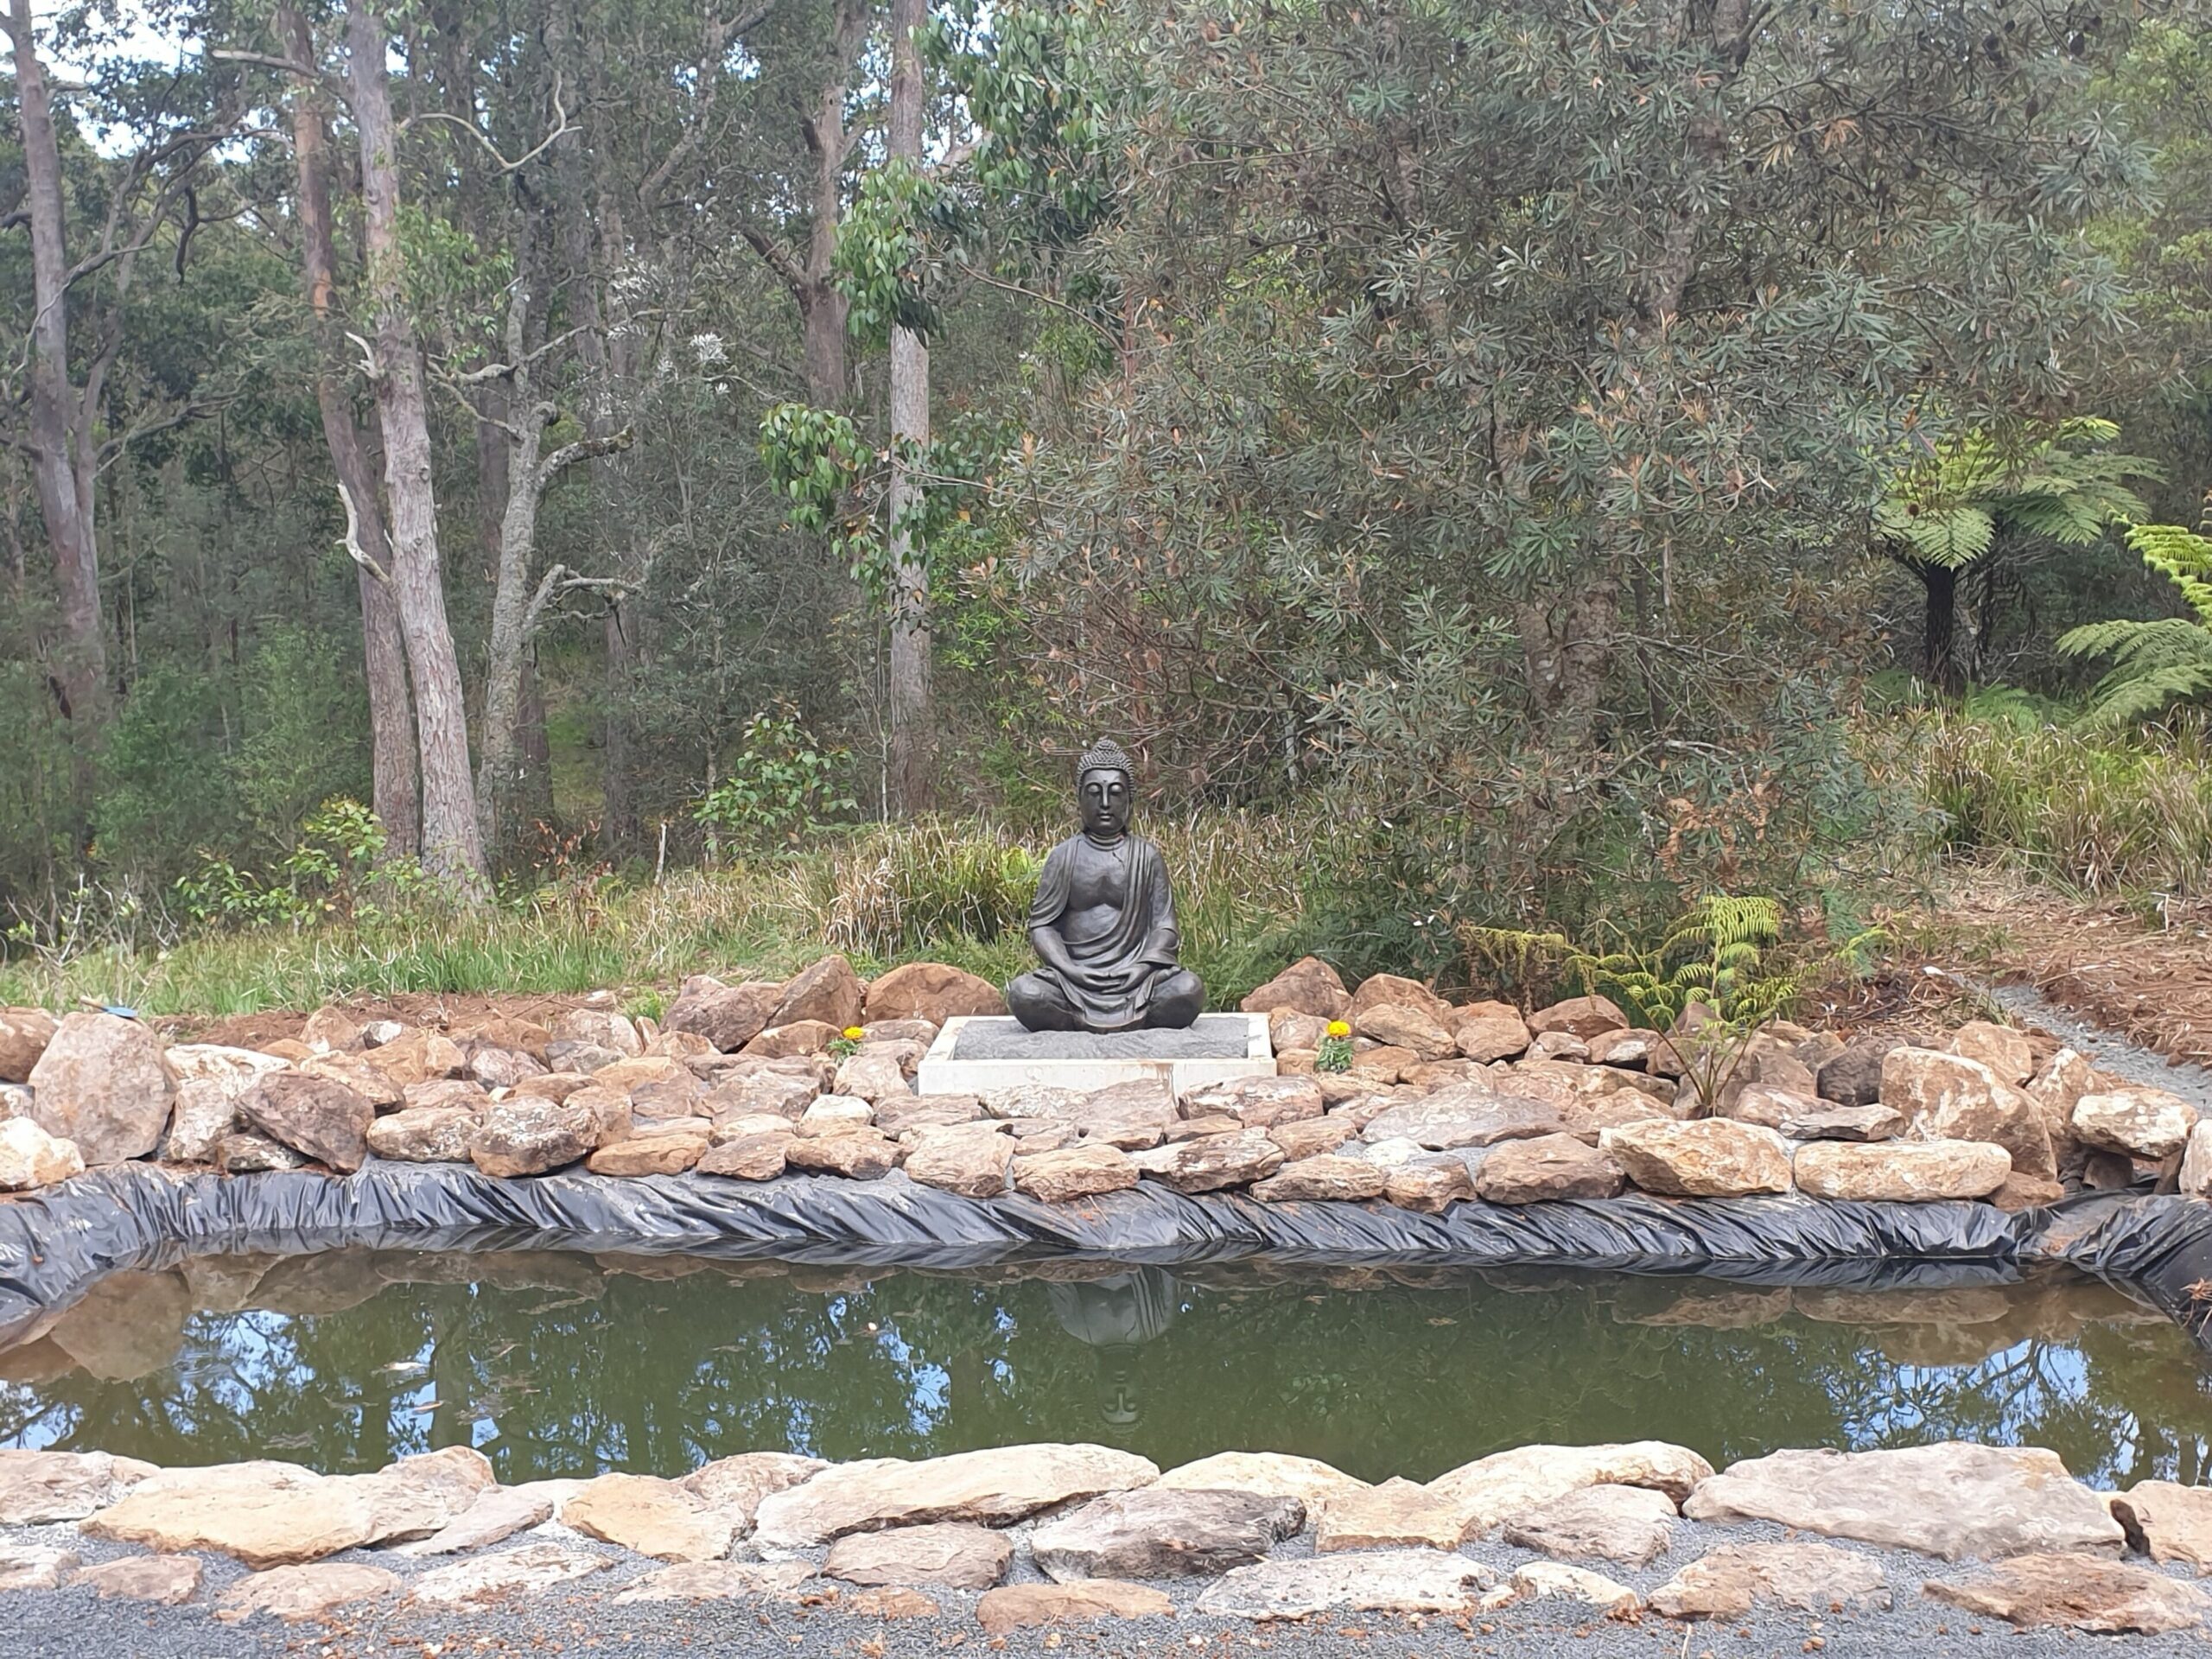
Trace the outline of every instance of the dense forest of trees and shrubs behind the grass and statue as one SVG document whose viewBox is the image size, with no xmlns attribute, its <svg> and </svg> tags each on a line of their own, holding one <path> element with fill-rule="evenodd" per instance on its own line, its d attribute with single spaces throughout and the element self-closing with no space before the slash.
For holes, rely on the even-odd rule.
<svg viewBox="0 0 2212 1659">
<path fill-rule="evenodd" d="M 1843 936 L 1991 743 L 2203 772 L 2190 4 L 4 4 L 18 949 L 1099 732 L 1378 962 Z"/>
</svg>

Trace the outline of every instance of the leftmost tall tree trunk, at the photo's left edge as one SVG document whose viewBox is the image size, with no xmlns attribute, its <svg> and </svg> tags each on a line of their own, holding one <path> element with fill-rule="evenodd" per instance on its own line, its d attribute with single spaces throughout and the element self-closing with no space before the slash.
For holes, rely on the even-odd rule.
<svg viewBox="0 0 2212 1659">
<path fill-rule="evenodd" d="M 62 215 L 62 150 L 53 133 L 46 71 L 31 33 L 31 0 L 9 0 L 15 102 L 22 122 L 27 217 L 31 219 L 31 473 L 46 520 L 62 597 L 55 692 L 62 714 L 93 732 L 106 710 L 108 653 L 100 617 L 100 544 L 93 538 L 91 389 L 69 383 L 69 243 Z"/>
</svg>

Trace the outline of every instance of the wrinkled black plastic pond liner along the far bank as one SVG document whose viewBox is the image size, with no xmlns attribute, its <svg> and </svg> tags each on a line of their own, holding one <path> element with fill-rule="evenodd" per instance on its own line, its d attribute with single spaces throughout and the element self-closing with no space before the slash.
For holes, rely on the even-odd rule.
<svg viewBox="0 0 2212 1659">
<path fill-rule="evenodd" d="M 2090 1194 L 2004 1214 L 1989 1203 L 1562 1199 L 1387 1203 L 1183 1197 L 1146 1181 L 1082 1203 L 962 1199 L 883 1181 L 710 1175 L 502 1181 L 469 1164 L 177 1175 L 119 1164 L 0 1203 L 0 1343 L 97 1279 L 219 1252 L 591 1250 L 876 1267 L 1126 1263 L 1586 1267 L 1754 1285 L 1905 1290 L 2008 1283 L 2066 1263 L 2154 1301 L 2212 1347 L 2212 1203 Z M 2192 1287 L 2203 1285 L 2203 1294 Z"/>
</svg>

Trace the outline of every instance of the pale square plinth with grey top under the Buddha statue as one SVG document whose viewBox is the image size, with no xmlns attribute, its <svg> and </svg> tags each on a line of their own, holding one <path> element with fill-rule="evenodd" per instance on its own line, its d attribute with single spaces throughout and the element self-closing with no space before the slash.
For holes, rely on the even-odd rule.
<svg viewBox="0 0 2212 1659">
<path fill-rule="evenodd" d="M 922 1095 L 1051 1084 L 1106 1088 L 1157 1077 L 1177 1095 L 1228 1077 L 1274 1077 L 1263 1013 L 1201 1013 L 1186 1031 L 1024 1031 L 1009 1018 L 947 1020 L 922 1055 Z"/>
</svg>

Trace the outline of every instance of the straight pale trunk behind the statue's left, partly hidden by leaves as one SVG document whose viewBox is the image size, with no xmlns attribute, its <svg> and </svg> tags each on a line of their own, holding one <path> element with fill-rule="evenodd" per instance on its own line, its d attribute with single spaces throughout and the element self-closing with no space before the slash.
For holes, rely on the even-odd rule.
<svg viewBox="0 0 2212 1659">
<path fill-rule="evenodd" d="M 922 58 L 916 33 L 927 0 L 891 0 L 894 159 L 922 164 Z M 929 551 L 905 520 L 920 502 L 914 458 L 929 445 L 929 347 L 891 325 L 891 810 L 927 812 L 936 781 L 936 712 L 929 703 Z"/>
</svg>

